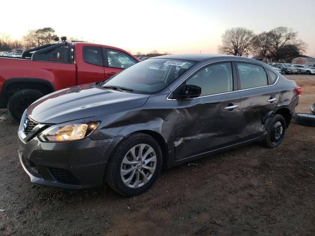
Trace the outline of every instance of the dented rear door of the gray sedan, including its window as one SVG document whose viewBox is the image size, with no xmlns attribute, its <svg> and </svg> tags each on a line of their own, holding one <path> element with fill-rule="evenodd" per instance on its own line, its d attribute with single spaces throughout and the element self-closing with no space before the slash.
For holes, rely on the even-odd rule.
<svg viewBox="0 0 315 236">
<path fill-rule="evenodd" d="M 241 96 L 242 130 L 240 139 L 251 140 L 265 130 L 265 121 L 279 101 L 274 84 L 278 75 L 263 66 L 237 62 L 236 72 Z"/>
</svg>

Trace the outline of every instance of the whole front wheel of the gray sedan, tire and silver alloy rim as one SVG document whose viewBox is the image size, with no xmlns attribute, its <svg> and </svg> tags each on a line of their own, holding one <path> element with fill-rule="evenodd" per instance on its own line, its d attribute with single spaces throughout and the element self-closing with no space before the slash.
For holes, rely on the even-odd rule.
<svg viewBox="0 0 315 236">
<path fill-rule="evenodd" d="M 154 159 L 154 156 L 156 156 L 155 164 L 154 161 L 148 163 L 148 166 L 151 165 L 150 168 L 155 168 L 155 171 L 153 173 L 151 171 L 148 171 L 148 169 L 146 169 L 145 167 L 141 168 L 139 166 L 145 163 L 143 162 L 143 160 L 140 160 L 140 163 L 135 161 L 135 159 L 137 158 L 131 158 L 130 151 L 132 150 L 132 148 L 138 146 L 142 147 L 142 145 L 146 145 L 145 147 L 147 148 L 142 149 L 144 154 L 146 153 L 146 151 L 150 151 L 150 148 L 152 148 L 155 152 L 150 152 L 145 159 Z M 134 150 L 134 153 L 136 154 L 135 156 L 138 157 L 137 153 L 140 153 L 140 147 L 135 148 Z M 131 162 L 135 162 L 136 164 L 129 165 L 129 163 Z M 147 191 L 154 184 L 154 182 L 158 178 L 161 167 L 162 151 L 158 145 L 158 142 L 153 137 L 147 134 L 132 134 L 126 137 L 113 151 L 110 160 L 106 166 L 104 175 L 105 182 L 108 184 L 108 186 L 110 186 L 114 191 L 118 192 L 119 194 L 126 197 L 133 197 Z M 130 171 L 131 169 L 132 171 Z M 143 173 L 147 176 L 146 179 L 144 178 Z M 137 181 L 137 179 L 139 181 Z"/>
</svg>

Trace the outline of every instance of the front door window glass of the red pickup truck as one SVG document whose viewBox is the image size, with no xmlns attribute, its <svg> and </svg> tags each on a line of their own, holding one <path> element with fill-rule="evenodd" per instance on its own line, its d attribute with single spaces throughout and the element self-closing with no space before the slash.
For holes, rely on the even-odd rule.
<svg viewBox="0 0 315 236">
<path fill-rule="evenodd" d="M 126 69 L 131 65 L 137 63 L 135 59 L 123 53 L 121 51 L 113 50 L 113 49 L 106 49 L 107 51 L 107 60 L 108 60 L 108 67 L 115 67 Z"/>
</svg>

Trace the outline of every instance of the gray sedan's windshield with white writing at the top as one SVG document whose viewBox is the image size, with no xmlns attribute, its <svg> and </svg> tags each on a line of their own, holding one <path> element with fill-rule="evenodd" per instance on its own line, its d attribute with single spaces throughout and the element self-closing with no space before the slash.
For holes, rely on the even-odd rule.
<svg viewBox="0 0 315 236">
<path fill-rule="evenodd" d="M 179 59 L 148 59 L 123 70 L 102 86 L 154 94 L 168 87 L 195 63 Z"/>
</svg>

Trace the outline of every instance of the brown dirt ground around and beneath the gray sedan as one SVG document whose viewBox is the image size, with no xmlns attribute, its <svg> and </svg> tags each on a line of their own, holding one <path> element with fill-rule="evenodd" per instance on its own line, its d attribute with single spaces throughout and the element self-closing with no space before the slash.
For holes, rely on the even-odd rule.
<svg viewBox="0 0 315 236">
<path fill-rule="evenodd" d="M 315 76 L 298 112 L 310 113 Z M 124 198 L 108 187 L 32 184 L 17 158 L 17 125 L 0 110 L 0 235 L 315 236 L 315 128 L 291 124 L 283 144 L 259 143 L 163 170 L 153 188 Z"/>
</svg>

